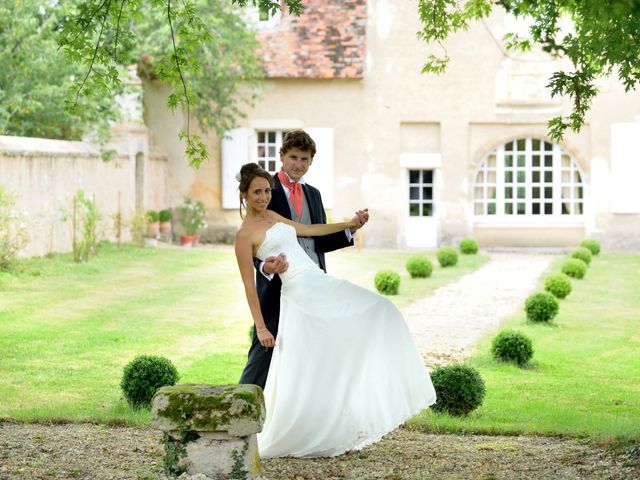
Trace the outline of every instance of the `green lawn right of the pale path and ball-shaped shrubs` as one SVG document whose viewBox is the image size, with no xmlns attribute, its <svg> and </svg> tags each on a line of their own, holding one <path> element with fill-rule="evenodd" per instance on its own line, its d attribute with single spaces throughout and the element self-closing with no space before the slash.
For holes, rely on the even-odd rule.
<svg viewBox="0 0 640 480">
<path fill-rule="evenodd" d="M 639 439 L 640 255 L 594 257 L 585 278 L 572 284 L 553 325 L 527 324 L 524 312 L 505 323 L 533 340 L 529 368 L 494 362 L 486 338 L 470 361 L 486 382 L 484 405 L 463 419 L 426 411 L 410 425 L 432 432 Z"/>
</svg>

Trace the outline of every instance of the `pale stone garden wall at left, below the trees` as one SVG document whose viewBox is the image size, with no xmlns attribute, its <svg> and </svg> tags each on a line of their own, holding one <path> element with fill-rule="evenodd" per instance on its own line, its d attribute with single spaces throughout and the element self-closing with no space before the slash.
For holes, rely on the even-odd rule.
<svg viewBox="0 0 640 480">
<path fill-rule="evenodd" d="M 127 220 L 136 209 L 166 208 L 168 164 L 149 151 L 146 128 L 119 126 L 108 148 L 116 155 L 104 161 L 88 142 L 0 136 L 0 185 L 15 197 L 29 233 L 21 255 L 71 251 L 71 222 L 64 218 L 80 189 L 101 214 L 100 239 L 115 239 L 119 210 Z M 125 229 L 123 240 L 128 238 Z"/>
</svg>

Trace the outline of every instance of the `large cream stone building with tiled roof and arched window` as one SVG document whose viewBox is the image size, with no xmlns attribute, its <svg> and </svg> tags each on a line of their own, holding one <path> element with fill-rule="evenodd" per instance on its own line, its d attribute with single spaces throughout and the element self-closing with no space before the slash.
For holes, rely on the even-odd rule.
<svg viewBox="0 0 640 480">
<path fill-rule="evenodd" d="M 168 158 L 168 197 L 202 199 L 209 237 L 240 222 L 237 182 L 249 161 L 271 172 L 289 129 L 318 143 L 307 180 L 335 220 L 368 207 L 365 244 L 436 247 L 474 236 L 483 246 L 640 248 L 640 95 L 600 82 L 587 122 L 560 144 L 547 122 L 568 114 L 549 76 L 562 65 L 541 51 L 506 52 L 521 28 L 499 11 L 453 35 L 446 73 L 422 74 L 440 46 L 417 38 L 415 0 L 308 0 L 301 17 L 254 15 L 267 80 L 239 128 L 206 137 L 212 159 L 190 169 L 166 89 L 145 88 L 146 124 Z M 499 9 L 497 9 L 499 10 Z M 566 66 L 566 65 L 565 65 Z"/>
</svg>

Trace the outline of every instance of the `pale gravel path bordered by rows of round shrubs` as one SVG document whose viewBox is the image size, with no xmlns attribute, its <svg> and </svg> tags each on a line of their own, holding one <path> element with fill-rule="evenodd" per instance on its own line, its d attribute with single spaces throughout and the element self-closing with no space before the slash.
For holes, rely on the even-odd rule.
<svg viewBox="0 0 640 480">
<path fill-rule="evenodd" d="M 491 260 L 403 311 L 430 367 L 464 360 L 477 341 L 522 309 L 538 279 L 558 258 L 552 254 L 491 253 Z"/>
</svg>

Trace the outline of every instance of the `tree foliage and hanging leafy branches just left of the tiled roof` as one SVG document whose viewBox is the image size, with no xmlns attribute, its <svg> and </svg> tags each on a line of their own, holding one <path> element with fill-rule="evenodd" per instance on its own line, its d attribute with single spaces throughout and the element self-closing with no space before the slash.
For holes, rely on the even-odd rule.
<svg viewBox="0 0 640 480">
<path fill-rule="evenodd" d="M 300 12 L 301 1 L 286 2 Z M 259 47 L 241 12 L 246 1 L 228 0 L 87 0 L 67 17 L 60 45 L 81 62 L 85 78 L 76 82 L 78 101 L 96 95 L 112 97 L 121 88 L 121 66 L 138 65 L 146 81 L 172 87 L 167 105 L 186 117 L 180 135 L 189 163 L 198 167 L 209 158 L 200 130 L 219 135 L 234 128 L 261 85 Z M 279 8 L 274 1 L 259 2 Z M 242 87 L 242 92 L 241 92 Z"/>
</svg>

